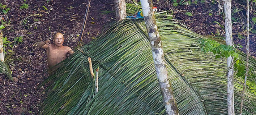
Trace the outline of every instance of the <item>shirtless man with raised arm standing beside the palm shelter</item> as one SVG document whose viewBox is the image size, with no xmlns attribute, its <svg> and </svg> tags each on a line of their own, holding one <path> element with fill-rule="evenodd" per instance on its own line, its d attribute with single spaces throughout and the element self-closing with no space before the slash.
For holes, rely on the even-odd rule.
<svg viewBox="0 0 256 115">
<path fill-rule="evenodd" d="M 67 58 L 67 54 L 73 54 L 73 50 L 68 46 L 63 46 L 64 36 L 61 33 L 56 33 L 53 39 L 54 43 L 51 44 L 50 40 L 38 43 L 38 47 L 46 49 L 47 63 L 50 68 L 49 73 L 59 68 L 55 66 Z M 54 67 L 55 66 L 55 67 Z"/>
</svg>

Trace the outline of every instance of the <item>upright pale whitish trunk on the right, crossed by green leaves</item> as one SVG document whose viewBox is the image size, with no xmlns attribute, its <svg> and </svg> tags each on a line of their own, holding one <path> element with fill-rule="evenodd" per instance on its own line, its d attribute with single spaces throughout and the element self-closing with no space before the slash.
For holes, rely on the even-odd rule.
<svg viewBox="0 0 256 115">
<path fill-rule="evenodd" d="M 234 46 L 231 23 L 231 0 L 223 0 L 225 12 L 226 45 Z M 235 115 L 234 108 L 234 57 L 227 58 L 227 111 L 228 115 Z"/>
</svg>

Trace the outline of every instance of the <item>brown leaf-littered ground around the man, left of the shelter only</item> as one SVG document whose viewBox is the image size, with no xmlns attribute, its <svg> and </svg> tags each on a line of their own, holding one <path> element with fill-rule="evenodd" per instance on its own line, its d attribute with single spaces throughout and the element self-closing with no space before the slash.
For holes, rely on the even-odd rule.
<svg viewBox="0 0 256 115">
<path fill-rule="evenodd" d="M 0 115 L 35 115 L 43 98 L 46 86 L 38 85 L 48 76 L 46 52 L 36 46 L 36 42 L 51 40 L 56 32 L 65 37 L 65 46 L 74 47 L 78 43 L 84 20 L 87 0 L 1 0 L 11 10 L 8 17 L 10 25 L 4 30 L 8 41 L 23 36 L 22 43 L 7 47 L 15 51 L 11 57 L 10 69 L 17 82 L 0 75 Z M 29 4 L 28 9 L 19 9 L 21 4 Z M 112 1 L 92 0 L 88 21 L 82 41 L 88 43 L 96 37 L 108 23 L 114 21 L 115 14 L 102 14 L 101 11 L 113 11 Z M 46 7 L 48 10 L 46 10 Z M 31 16 L 39 14 L 36 16 Z M 30 16 L 30 17 L 29 17 Z M 25 23 L 21 22 L 26 19 Z M 6 49 L 6 50 L 7 50 Z"/>
</svg>

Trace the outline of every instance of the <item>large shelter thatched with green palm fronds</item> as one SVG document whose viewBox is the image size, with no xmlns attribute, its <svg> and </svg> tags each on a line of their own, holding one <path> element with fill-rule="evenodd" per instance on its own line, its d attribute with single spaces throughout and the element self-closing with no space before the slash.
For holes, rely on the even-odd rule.
<svg viewBox="0 0 256 115">
<path fill-rule="evenodd" d="M 157 24 L 179 114 L 227 115 L 226 59 L 204 54 L 196 42 L 204 37 L 182 24 L 165 18 L 157 18 Z M 96 95 L 88 57 L 94 70 L 99 67 Z M 255 74 L 254 59 L 250 58 L 249 66 Z M 54 78 L 43 115 L 165 115 L 144 20 L 112 25 L 65 60 L 48 80 Z M 240 79 L 235 78 L 236 114 L 243 87 Z M 256 95 L 247 88 L 243 115 L 254 114 Z"/>
</svg>

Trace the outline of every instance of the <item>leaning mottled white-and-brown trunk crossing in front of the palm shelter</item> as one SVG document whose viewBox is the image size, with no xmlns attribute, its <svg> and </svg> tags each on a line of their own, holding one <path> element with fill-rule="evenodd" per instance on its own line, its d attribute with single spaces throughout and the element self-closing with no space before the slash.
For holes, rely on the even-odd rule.
<svg viewBox="0 0 256 115">
<path fill-rule="evenodd" d="M 178 107 L 173 96 L 168 72 L 163 53 L 162 42 L 157 29 L 154 12 L 152 9 L 152 0 L 141 0 L 142 13 L 144 15 L 146 28 L 148 31 L 152 54 L 157 72 L 157 79 L 161 88 L 163 101 L 167 115 L 179 115 Z"/>
</svg>

